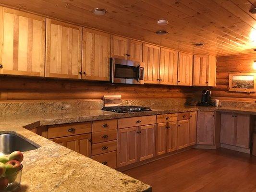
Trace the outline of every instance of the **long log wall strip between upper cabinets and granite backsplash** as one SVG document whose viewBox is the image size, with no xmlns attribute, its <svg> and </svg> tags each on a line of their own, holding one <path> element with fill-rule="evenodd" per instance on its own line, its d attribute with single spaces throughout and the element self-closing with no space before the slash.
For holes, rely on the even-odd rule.
<svg viewBox="0 0 256 192">
<path fill-rule="evenodd" d="M 200 89 L 199 89 L 200 90 Z M 128 85 L 76 80 L 0 76 L 0 100 L 194 97 L 196 87 Z"/>
</svg>

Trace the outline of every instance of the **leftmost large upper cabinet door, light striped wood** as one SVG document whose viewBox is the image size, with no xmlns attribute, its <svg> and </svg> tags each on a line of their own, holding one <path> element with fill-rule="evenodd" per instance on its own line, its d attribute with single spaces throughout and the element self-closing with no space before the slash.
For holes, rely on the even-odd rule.
<svg viewBox="0 0 256 192">
<path fill-rule="evenodd" d="M 0 7 L 0 74 L 44 76 L 45 18 Z"/>
</svg>

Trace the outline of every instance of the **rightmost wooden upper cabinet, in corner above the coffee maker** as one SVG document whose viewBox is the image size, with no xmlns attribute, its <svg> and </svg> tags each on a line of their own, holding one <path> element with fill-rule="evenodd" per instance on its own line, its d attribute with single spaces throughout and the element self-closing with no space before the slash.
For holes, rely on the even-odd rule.
<svg viewBox="0 0 256 192">
<path fill-rule="evenodd" d="M 216 86 L 216 57 L 194 55 L 193 85 Z"/>
</svg>

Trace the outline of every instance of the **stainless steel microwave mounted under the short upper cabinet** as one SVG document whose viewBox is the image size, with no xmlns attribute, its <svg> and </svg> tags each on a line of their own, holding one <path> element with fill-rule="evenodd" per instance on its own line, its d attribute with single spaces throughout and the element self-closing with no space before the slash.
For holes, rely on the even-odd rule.
<svg viewBox="0 0 256 192">
<path fill-rule="evenodd" d="M 111 58 L 110 81 L 119 84 L 144 84 L 144 63 Z"/>
</svg>

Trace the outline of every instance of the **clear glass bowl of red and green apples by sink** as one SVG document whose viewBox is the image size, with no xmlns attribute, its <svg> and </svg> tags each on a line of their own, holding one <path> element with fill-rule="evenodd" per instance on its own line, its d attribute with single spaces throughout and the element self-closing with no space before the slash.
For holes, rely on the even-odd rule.
<svg viewBox="0 0 256 192">
<path fill-rule="evenodd" d="M 0 192 L 12 192 L 21 182 L 23 154 L 14 151 L 0 156 Z"/>
</svg>

